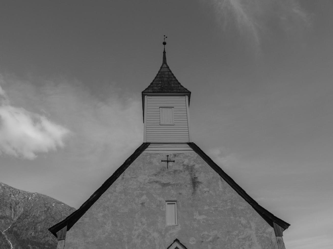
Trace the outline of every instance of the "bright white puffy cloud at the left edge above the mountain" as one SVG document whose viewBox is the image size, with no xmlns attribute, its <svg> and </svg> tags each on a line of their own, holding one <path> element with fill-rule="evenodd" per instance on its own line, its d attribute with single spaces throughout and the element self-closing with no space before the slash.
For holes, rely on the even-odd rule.
<svg viewBox="0 0 333 249">
<path fill-rule="evenodd" d="M 5 83 L 2 78 L 0 83 Z M 10 105 L 1 85 L 0 99 L 0 154 L 34 159 L 36 153 L 64 147 L 68 129 L 43 115 Z"/>
</svg>

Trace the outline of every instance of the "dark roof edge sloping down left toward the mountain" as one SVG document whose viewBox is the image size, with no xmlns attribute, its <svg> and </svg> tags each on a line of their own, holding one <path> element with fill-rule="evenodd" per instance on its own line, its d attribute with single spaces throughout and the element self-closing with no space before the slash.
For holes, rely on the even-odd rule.
<svg viewBox="0 0 333 249">
<path fill-rule="evenodd" d="M 64 220 L 49 228 L 49 231 L 57 237 L 57 232 L 67 225 L 67 231 L 82 217 L 82 215 L 102 196 L 102 194 L 118 179 L 121 174 L 134 162 L 135 159 L 149 146 L 150 143 L 143 143 L 134 153 L 110 176 L 102 186 L 81 205 L 79 209 L 68 215 Z"/>
</svg>

